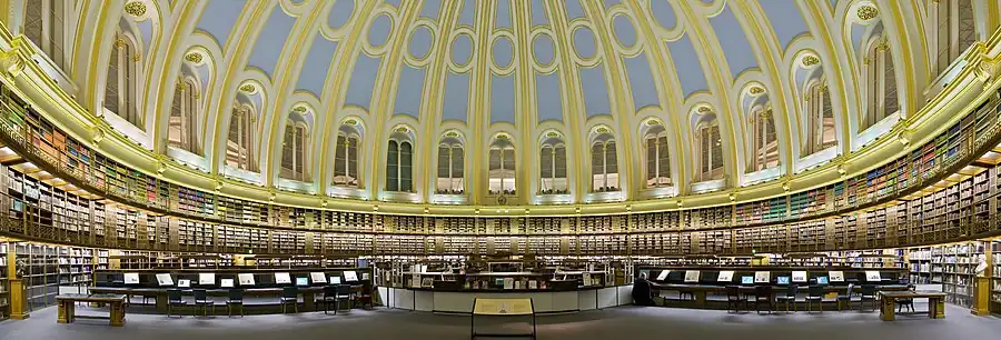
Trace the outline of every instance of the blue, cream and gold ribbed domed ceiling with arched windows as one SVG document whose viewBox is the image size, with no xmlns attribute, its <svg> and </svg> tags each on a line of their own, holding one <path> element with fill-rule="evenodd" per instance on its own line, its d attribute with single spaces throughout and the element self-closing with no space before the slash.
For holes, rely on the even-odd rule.
<svg viewBox="0 0 1001 340">
<path fill-rule="evenodd" d="M 933 72 L 895 17 L 926 11 L 910 1 L 119 2 L 79 9 L 102 37 L 66 67 L 86 107 L 209 173 L 369 200 L 576 203 L 766 182 L 890 131 Z M 137 63 L 133 100 L 109 81 L 131 69 L 88 67 L 122 44 L 137 51 L 119 59 Z"/>
</svg>

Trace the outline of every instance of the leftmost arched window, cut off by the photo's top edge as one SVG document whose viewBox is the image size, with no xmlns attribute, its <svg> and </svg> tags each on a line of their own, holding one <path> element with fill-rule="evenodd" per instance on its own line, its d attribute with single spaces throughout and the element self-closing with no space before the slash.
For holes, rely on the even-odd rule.
<svg viewBox="0 0 1001 340">
<path fill-rule="evenodd" d="M 24 36 L 67 73 L 69 73 L 67 70 L 69 57 L 66 56 L 63 46 L 67 39 L 66 12 L 69 4 L 72 2 L 27 0 L 24 7 Z"/>
</svg>

